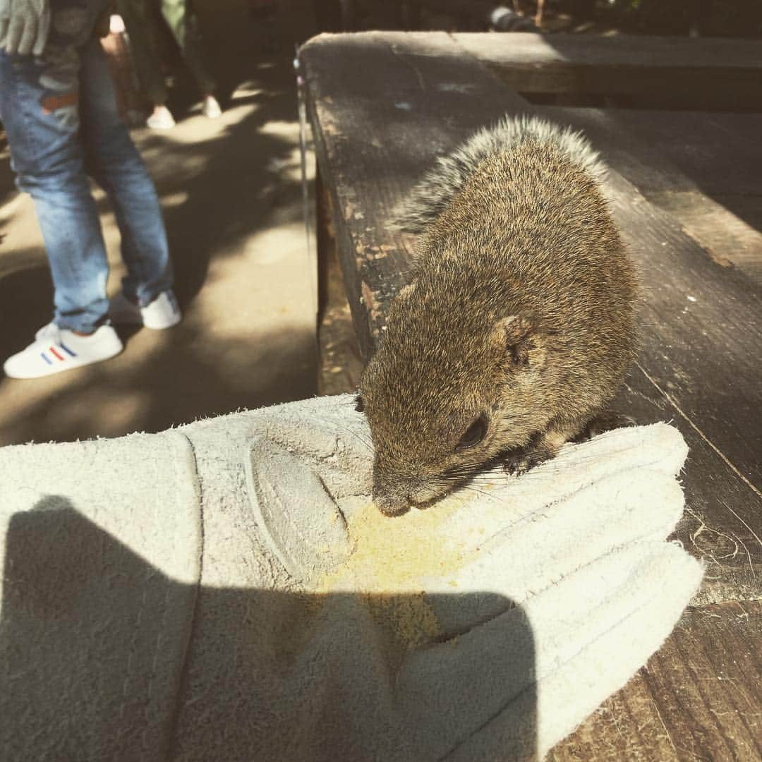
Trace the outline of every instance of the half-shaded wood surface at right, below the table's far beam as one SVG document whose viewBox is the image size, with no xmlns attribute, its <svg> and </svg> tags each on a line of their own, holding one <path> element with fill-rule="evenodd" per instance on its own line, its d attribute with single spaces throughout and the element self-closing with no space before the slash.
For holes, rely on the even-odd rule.
<svg viewBox="0 0 762 762">
<path fill-rule="evenodd" d="M 610 166 L 719 264 L 762 287 L 762 115 L 546 108 L 597 136 Z"/>
</svg>

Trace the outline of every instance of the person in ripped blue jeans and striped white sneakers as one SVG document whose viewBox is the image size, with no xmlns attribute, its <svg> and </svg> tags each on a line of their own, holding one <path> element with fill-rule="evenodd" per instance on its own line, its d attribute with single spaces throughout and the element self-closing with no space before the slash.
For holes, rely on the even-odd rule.
<svg viewBox="0 0 762 762">
<path fill-rule="evenodd" d="M 158 197 L 120 119 L 96 29 L 105 0 L 0 0 L 0 120 L 16 184 L 34 200 L 53 275 L 53 321 L 5 360 L 36 378 L 114 357 L 111 325 L 181 319 Z M 109 303 L 108 263 L 88 174 L 107 192 L 127 275 Z"/>
</svg>

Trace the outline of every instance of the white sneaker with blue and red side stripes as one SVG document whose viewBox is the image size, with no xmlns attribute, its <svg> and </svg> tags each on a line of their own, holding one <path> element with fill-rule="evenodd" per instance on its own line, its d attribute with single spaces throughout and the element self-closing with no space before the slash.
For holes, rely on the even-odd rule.
<svg viewBox="0 0 762 762">
<path fill-rule="evenodd" d="M 11 379 L 36 379 L 108 360 L 122 348 L 117 331 L 110 325 L 101 325 L 91 335 L 80 336 L 49 323 L 37 331 L 26 349 L 5 360 L 3 370 Z"/>
</svg>

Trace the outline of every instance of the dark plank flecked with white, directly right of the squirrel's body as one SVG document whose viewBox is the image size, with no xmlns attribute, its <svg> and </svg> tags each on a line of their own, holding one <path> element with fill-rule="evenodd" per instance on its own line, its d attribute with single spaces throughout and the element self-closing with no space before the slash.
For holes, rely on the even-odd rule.
<svg viewBox="0 0 762 762">
<path fill-rule="evenodd" d="M 622 168 L 619 157 L 626 150 L 629 177 L 639 146 L 626 131 L 616 130 L 607 112 L 546 108 L 542 113 L 581 126 L 613 167 Z M 610 174 L 607 194 L 639 264 L 644 367 L 760 490 L 762 467 L 755 455 L 762 450 L 760 289 L 743 273 L 719 266 L 622 174 Z"/>
</svg>

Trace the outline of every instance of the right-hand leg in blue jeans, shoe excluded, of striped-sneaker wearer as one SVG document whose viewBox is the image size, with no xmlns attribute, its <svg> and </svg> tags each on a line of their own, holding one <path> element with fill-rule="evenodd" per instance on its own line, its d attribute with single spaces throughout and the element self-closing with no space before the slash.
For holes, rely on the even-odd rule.
<svg viewBox="0 0 762 762">
<path fill-rule="evenodd" d="M 127 267 L 124 294 L 147 306 L 172 287 L 162 210 L 146 165 L 119 116 L 98 41 L 83 47 L 80 56 L 82 139 L 88 170 L 114 205 Z"/>
</svg>

